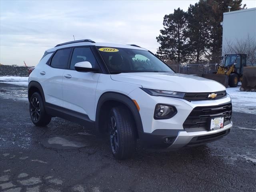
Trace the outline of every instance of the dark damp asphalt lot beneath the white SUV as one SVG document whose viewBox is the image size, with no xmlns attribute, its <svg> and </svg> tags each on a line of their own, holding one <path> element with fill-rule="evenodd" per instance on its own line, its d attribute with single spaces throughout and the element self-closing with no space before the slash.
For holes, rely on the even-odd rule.
<svg viewBox="0 0 256 192">
<path fill-rule="evenodd" d="M 256 115 L 233 112 L 221 140 L 174 152 L 138 146 L 130 160 L 111 154 L 107 136 L 52 118 L 30 121 L 26 87 L 0 84 L 3 192 L 255 192 Z"/>
</svg>

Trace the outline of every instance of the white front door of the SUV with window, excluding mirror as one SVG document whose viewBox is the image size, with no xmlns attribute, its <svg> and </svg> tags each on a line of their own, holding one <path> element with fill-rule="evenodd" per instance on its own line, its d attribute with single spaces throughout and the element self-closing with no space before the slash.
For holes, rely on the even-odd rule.
<svg viewBox="0 0 256 192">
<path fill-rule="evenodd" d="M 90 47 L 72 49 L 69 69 L 64 70 L 63 74 L 63 107 L 95 120 L 95 94 L 100 74 L 76 71 L 74 65 L 82 61 L 90 62 L 93 68 L 99 67 Z"/>
</svg>

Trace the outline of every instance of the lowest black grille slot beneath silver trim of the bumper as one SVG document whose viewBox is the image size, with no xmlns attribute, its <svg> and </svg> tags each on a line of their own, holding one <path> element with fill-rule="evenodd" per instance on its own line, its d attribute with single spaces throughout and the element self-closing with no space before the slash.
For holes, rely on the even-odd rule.
<svg viewBox="0 0 256 192">
<path fill-rule="evenodd" d="M 187 146 L 193 146 L 193 145 L 212 142 L 212 141 L 218 140 L 218 139 L 222 138 L 223 136 L 229 134 L 229 132 L 230 132 L 230 129 L 222 131 L 222 132 L 218 132 L 215 134 L 193 137 L 192 140 L 187 144 Z"/>
</svg>

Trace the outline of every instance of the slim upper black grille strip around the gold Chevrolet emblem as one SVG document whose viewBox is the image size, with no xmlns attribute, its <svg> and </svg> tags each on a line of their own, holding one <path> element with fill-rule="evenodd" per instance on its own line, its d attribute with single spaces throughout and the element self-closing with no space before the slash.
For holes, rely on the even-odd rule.
<svg viewBox="0 0 256 192">
<path fill-rule="evenodd" d="M 209 94 L 215 93 L 217 94 L 216 98 L 209 98 Z M 186 93 L 184 99 L 190 101 L 202 101 L 202 100 L 216 100 L 220 98 L 226 97 L 226 91 L 218 91 L 218 92 L 205 92 L 205 93 Z"/>
</svg>

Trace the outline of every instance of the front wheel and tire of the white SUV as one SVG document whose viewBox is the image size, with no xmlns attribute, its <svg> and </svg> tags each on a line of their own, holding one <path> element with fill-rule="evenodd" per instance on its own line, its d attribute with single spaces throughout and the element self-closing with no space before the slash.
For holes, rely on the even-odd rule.
<svg viewBox="0 0 256 192">
<path fill-rule="evenodd" d="M 135 124 L 130 111 L 123 106 L 110 110 L 108 130 L 112 154 L 118 160 L 131 158 L 136 150 Z"/>
</svg>

